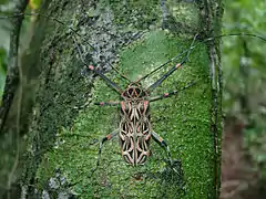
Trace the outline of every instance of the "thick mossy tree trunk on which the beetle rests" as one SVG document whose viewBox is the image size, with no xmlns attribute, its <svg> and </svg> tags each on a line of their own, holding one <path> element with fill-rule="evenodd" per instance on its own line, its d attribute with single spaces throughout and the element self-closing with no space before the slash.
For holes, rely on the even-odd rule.
<svg viewBox="0 0 266 199">
<path fill-rule="evenodd" d="M 127 166 L 115 137 L 104 143 L 96 168 L 99 140 L 119 128 L 120 116 L 117 107 L 93 103 L 121 98 L 86 70 L 73 41 L 75 36 L 88 64 L 98 65 L 125 88 L 126 81 L 109 63 L 136 81 L 187 50 L 196 33 L 200 39 L 217 34 L 221 7 L 215 3 L 219 4 L 166 0 L 54 0 L 43 4 L 42 13 L 63 21 L 82 38 L 40 17 L 32 53 L 22 60 L 24 75 L 40 71 L 31 117 L 22 123 L 28 136 L 27 156 L 20 161 L 24 169 L 18 174 L 23 196 L 217 198 L 222 112 L 219 56 L 214 43 L 196 42 L 187 63 L 151 94 L 195 82 L 177 95 L 151 103 L 153 129 L 170 146 L 174 165 L 168 166 L 166 153 L 152 140 L 145 165 Z M 180 61 L 145 78 L 142 86 L 154 83 Z M 84 104 L 88 106 L 80 108 Z"/>
</svg>

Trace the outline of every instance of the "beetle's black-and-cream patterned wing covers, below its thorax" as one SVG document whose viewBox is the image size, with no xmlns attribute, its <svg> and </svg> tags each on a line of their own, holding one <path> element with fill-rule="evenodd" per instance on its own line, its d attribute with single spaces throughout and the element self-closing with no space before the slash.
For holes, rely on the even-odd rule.
<svg viewBox="0 0 266 199">
<path fill-rule="evenodd" d="M 151 123 L 149 102 L 121 102 L 120 143 L 130 165 L 141 165 L 150 155 Z"/>
</svg>

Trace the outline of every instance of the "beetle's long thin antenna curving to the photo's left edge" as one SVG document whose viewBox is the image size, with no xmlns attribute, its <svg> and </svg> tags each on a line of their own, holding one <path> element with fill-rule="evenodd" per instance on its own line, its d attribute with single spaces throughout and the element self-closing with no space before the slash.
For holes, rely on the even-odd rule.
<svg viewBox="0 0 266 199">
<path fill-rule="evenodd" d="M 4 13 L 4 12 L 2 12 Z M 69 30 L 71 30 L 75 35 L 79 35 L 81 38 L 81 41 L 82 42 L 85 42 L 93 51 L 95 51 L 96 53 L 101 53 L 101 51 L 99 52 L 92 44 L 90 44 L 86 40 L 84 40 L 82 38 L 82 35 L 80 33 L 76 32 L 76 30 L 74 30 L 73 28 L 71 27 L 68 27 L 64 22 L 58 20 L 57 18 L 52 18 L 52 17 L 49 17 L 49 15 L 45 15 L 45 14 L 41 14 L 41 13 L 13 13 L 10 15 L 10 13 L 6 13 L 7 15 L 3 15 L 3 17 L 0 17 L 0 19 L 9 19 L 9 18 L 17 18 L 17 17 L 20 17 L 20 15 L 41 15 L 42 18 L 45 18 L 45 19 L 49 19 L 49 20 L 53 20 L 55 22 L 58 22 L 59 24 L 61 25 L 64 25 Z M 108 65 L 114 70 L 122 78 L 126 80 L 127 82 L 132 83 L 130 78 L 127 78 L 125 75 L 123 75 L 119 70 L 116 70 L 109 61 L 106 62 Z"/>
</svg>

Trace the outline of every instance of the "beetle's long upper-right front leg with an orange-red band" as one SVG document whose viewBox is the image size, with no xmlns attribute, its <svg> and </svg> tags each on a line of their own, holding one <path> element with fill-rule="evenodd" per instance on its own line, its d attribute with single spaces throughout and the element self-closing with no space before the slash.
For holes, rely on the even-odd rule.
<svg viewBox="0 0 266 199">
<path fill-rule="evenodd" d="M 173 67 L 171 67 L 161 78 L 158 78 L 155 83 L 153 83 L 151 86 L 147 87 L 146 92 L 151 93 L 154 88 L 160 86 L 162 82 L 167 78 L 173 72 L 175 72 L 177 69 L 180 69 L 183 64 L 185 64 L 190 57 L 190 54 L 193 50 L 194 42 L 197 38 L 197 34 L 194 36 L 193 42 L 191 43 L 190 50 L 186 53 L 186 56 L 177 64 L 175 64 Z"/>
</svg>

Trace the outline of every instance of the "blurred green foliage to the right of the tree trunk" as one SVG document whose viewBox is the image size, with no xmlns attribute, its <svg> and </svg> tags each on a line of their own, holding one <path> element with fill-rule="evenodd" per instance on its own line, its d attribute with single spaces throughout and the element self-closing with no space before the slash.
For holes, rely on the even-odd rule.
<svg viewBox="0 0 266 199">
<path fill-rule="evenodd" d="M 266 38 L 266 1 L 225 1 L 224 33 Z M 266 179 L 266 41 L 249 36 L 223 39 L 224 111 L 247 125 L 245 151 L 253 169 Z"/>
</svg>

